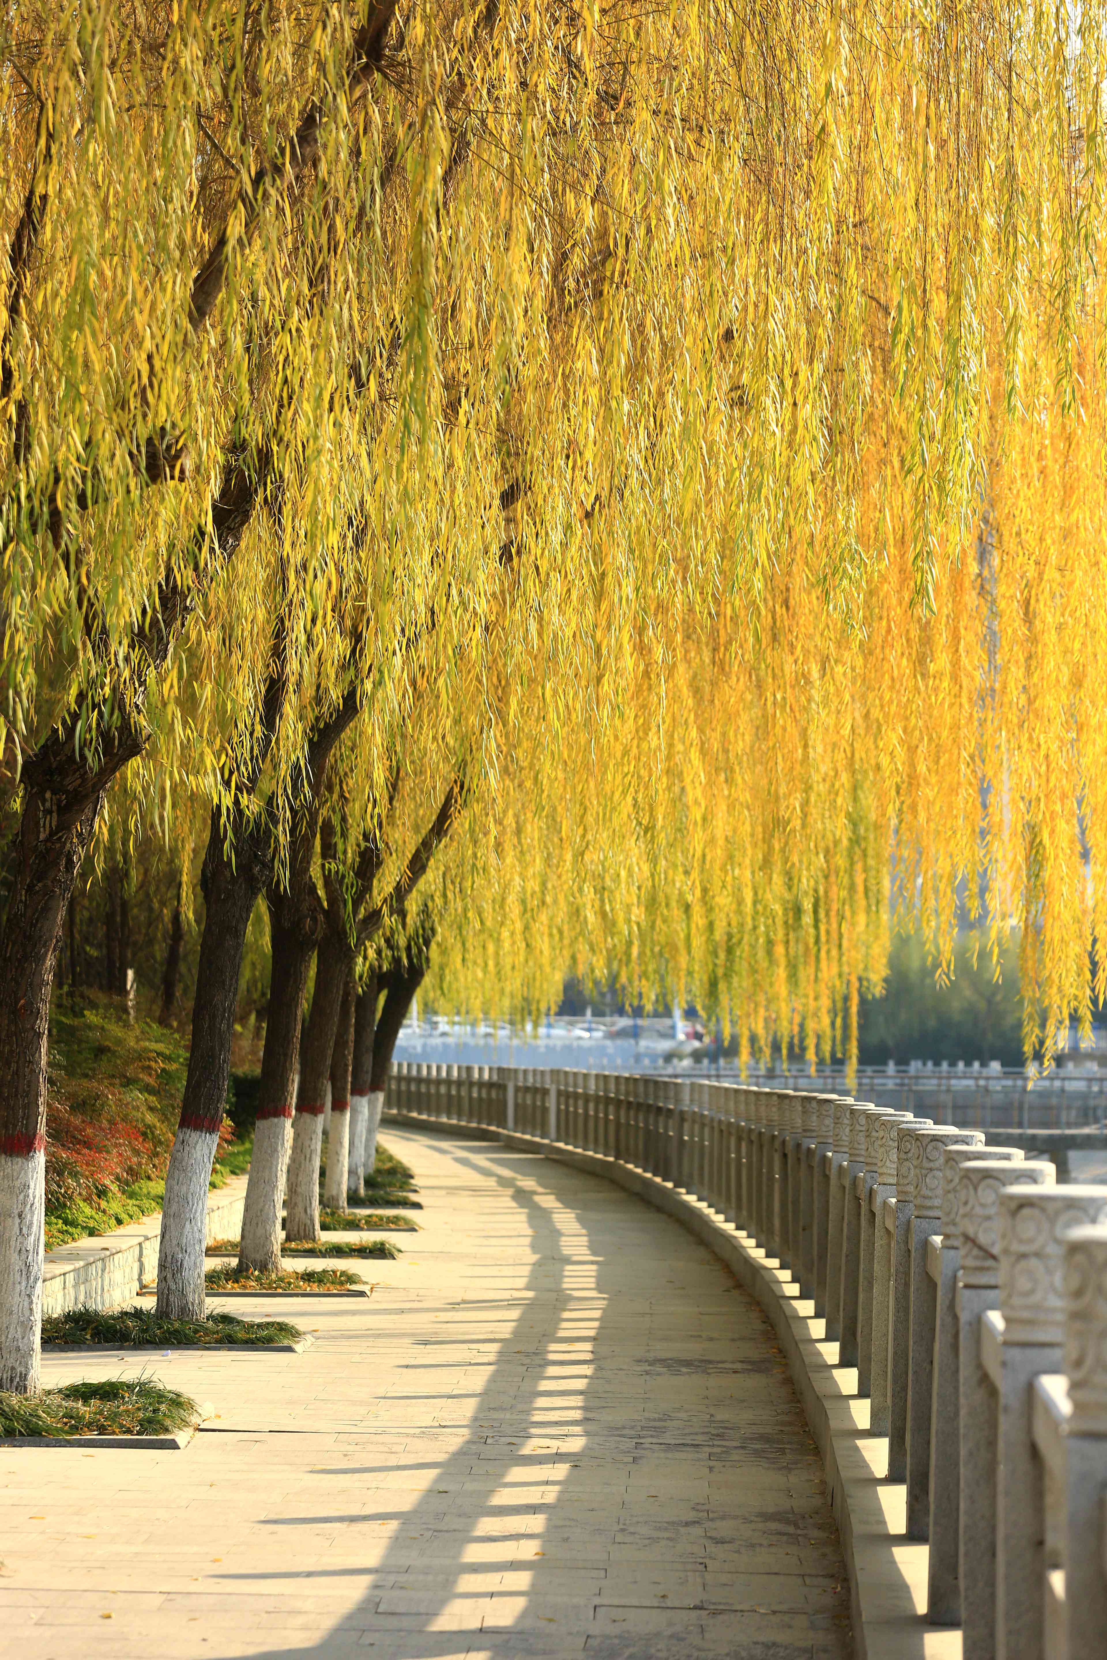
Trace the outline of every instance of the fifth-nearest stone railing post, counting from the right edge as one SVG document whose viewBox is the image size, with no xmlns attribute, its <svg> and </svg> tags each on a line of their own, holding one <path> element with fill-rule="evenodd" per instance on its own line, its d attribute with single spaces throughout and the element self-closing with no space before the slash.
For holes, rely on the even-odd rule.
<svg viewBox="0 0 1107 1660">
<path fill-rule="evenodd" d="M 983 1130 L 921 1129 L 911 1139 L 911 1260 L 908 1282 L 908 1539 L 929 1539 L 929 1408 L 934 1378 L 938 1286 L 926 1272 L 926 1240 L 941 1227 L 946 1147 L 983 1147 Z"/>
</svg>

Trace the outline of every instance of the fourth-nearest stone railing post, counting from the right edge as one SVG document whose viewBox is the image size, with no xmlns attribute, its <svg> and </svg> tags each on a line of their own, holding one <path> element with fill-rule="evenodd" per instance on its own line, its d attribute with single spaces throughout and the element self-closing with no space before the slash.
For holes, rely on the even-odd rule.
<svg viewBox="0 0 1107 1660">
<path fill-rule="evenodd" d="M 946 1147 L 941 1167 L 938 1308 L 929 1409 L 929 1554 L 926 1617 L 931 1625 L 961 1623 L 958 1537 L 961 1532 L 961 1328 L 956 1282 L 961 1263 L 961 1165 L 1024 1162 L 1021 1147 Z M 1017 1180 L 1012 1170 L 1011 1180 Z"/>
</svg>

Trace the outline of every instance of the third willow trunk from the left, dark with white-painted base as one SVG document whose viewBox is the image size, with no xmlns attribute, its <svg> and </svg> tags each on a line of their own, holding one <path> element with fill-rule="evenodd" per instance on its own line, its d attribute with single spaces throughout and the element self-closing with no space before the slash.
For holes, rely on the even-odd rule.
<svg viewBox="0 0 1107 1660">
<path fill-rule="evenodd" d="M 280 1272 L 280 1207 L 292 1147 L 304 998 L 319 938 L 319 911 L 310 905 L 310 895 L 271 893 L 269 935 L 269 1016 L 239 1242 L 239 1268 L 257 1273 Z"/>
</svg>

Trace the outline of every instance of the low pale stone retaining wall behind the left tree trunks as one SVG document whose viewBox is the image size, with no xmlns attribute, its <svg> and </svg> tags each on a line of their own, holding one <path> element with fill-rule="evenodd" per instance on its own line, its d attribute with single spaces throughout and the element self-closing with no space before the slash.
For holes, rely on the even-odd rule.
<svg viewBox="0 0 1107 1660">
<path fill-rule="evenodd" d="M 236 1238 L 242 1227 L 246 1177 L 234 1175 L 207 1200 L 207 1240 Z M 46 1252 L 43 1315 L 66 1308 L 118 1308 L 158 1277 L 161 1212 L 115 1233 L 100 1233 Z"/>
</svg>

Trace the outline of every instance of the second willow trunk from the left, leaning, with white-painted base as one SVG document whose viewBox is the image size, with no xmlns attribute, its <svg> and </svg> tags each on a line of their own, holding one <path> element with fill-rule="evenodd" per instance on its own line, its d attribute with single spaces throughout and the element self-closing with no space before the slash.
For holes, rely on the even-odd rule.
<svg viewBox="0 0 1107 1660">
<path fill-rule="evenodd" d="M 207 1187 L 227 1102 L 231 1042 L 239 999 L 246 930 L 271 875 L 269 838 L 234 837 L 227 853 L 217 810 L 204 855 L 204 931 L 199 941 L 193 1046 L 178 1134 L 169 1154 L 158 1243 L 158 1313 L 168 1320 L 204 1318 Z"/>
</svg>

